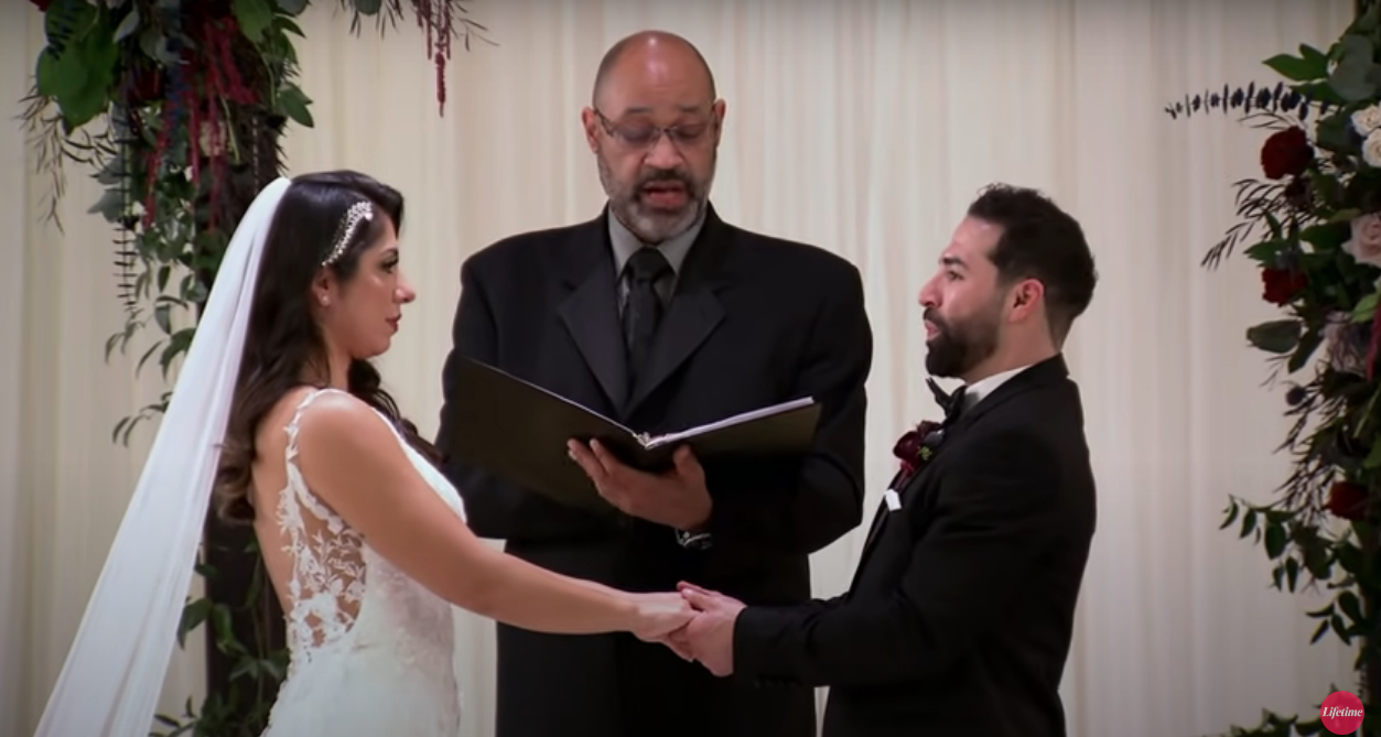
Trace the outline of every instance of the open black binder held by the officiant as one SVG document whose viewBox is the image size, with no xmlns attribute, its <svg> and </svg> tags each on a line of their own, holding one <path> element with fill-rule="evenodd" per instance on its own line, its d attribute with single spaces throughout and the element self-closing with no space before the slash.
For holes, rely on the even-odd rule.
<svg viewBox="0 0 1381 737">
<path fill-rule="evenodd" d="M 649 472 L 671 468 L 675 449 L 689 444 L 710 468 L 724 461 L 802 455 L 820 418 L 819 404 L 802 397 L 650 436 L 475 360 L 461 364 L 457 385 L 452 443 L 443 451 L 558 502 L 603 511 L 610 505 L 568 455 L 568 440 L 597 439 L 623 462 Z"/>
</svg>

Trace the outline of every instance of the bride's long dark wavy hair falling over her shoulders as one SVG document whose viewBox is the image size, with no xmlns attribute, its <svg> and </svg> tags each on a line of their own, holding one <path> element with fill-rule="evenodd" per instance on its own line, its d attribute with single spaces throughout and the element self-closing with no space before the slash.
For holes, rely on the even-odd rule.
<svg viewBox="0 0 1381 737">
<path fill-rule="evenodd" d="M 345 211 L 360 200 L 374 204 L 395 229 L 403 226 L 403 196 L 396 189 L 358 171 L 325 171 L 293 179 L 283 193 L 264 243 L 264 255 L 244 335 L 229 424 L 215 473 L 215 507 L 221 519 L 254 520 L 250 502 L 253 466 L 258 453 L 254 438 L 264 417 L 283 395 L 304 385 L 325 385 L 326 344 L 311 309 L 312 282 L 322 261 L 336 246 Z M 359 257 L 384 235 L 384 218 L 374 217 L 356 228 L 344 253 L 330 266 L 348 283 L 359 271 Z M 319 375 L 323 382 L 308 377 Z M 441 453 L 405 420 L 394 397 L 381 386 L 378 370 L 355 359 L 348 371 L 349 393 L 394 421 L 399 432 L 432 462 Z"/>
</svg>

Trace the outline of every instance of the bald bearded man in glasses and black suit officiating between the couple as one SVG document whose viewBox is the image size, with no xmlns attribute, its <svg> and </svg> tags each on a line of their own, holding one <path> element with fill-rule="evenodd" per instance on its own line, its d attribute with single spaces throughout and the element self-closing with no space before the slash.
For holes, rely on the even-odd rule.
<svg viewBox="0 0 1381 737">
<path fill-rule="evenodd" d="M 710 185 L 726 106 L 686 40 L 613 46 L 581 124 L 608 204 L 583 224 L 490 244 L 461 268 L 438 444 L 464 359 L 639 432 L 673 432 L 813 397 L 811 453 L 666 473 L 577 443 L 609 513 L 447 461 L 476 534 L 516 556 L 630 591 L 695 581 L 754 605 L 811 598 L 808 556 L 863 513 L 873 338 L 858 269 L 721 219 Z M 813 737 L 813 693 L 720 680 L 632 636 L 497 631 L 497 737 Z"/>
</svg>

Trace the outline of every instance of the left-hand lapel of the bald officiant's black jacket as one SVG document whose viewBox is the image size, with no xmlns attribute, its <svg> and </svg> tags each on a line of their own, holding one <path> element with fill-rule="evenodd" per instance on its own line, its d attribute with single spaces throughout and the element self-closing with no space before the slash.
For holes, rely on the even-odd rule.
<svg viewBox="0 0 1381 737">
<path fill-rule="evenodd" d="M 605 215 L 581 226 L 568 244 L 558 313 L 610 404 L 624 414 L 627 348 L 619 324 L 619 286 Z"/>
</svg>

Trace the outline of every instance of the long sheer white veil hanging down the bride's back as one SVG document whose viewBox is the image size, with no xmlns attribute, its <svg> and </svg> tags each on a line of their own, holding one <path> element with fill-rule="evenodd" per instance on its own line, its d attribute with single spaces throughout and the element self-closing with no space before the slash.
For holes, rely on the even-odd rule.
<svg viewBox="0 0 1381 737">
<path fill-rule="evenodd" d="M 139 483 L 36 737 L 145 737 L 196 563 L 254 284 L 290 181 L 264 188 L 215 276 Z"/>
</svg>

